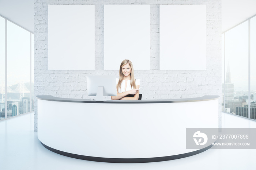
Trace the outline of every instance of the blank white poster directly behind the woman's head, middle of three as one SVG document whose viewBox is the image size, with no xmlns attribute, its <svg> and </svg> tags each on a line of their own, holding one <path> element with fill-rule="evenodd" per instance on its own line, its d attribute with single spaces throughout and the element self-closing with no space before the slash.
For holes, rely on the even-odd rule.
<svg viewBox="0 0 256 170">
<path fill-rule="evenodd" d="M 104 69 L 150 69 L 150 5 L 104 5 Z"/>
</svg>

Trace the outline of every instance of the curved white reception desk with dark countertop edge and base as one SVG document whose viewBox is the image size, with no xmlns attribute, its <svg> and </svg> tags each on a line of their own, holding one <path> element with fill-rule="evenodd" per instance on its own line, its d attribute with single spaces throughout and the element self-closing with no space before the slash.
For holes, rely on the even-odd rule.
<svg viewBox="0 0 256 170">
<path fill-rule="evenodd" d="M 186 149 L 186 128 L 218 128 L 219 96 L 95 101 L 37 96 L 38 139 L 49 150 L 100 162 L 157 162 Z"/>
</svg>

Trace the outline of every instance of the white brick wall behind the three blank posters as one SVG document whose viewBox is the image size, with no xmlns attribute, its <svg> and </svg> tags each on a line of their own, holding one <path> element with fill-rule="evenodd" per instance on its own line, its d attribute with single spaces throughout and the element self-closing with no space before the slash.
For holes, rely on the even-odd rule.
<svg viewBox="0 0 256 170">
<path fill-rule="evenodd" d="M 48 70 L 48 4 L 95 5 L 95 70 Z M 118 70 L 104 70 L 103 66 L 104 4 L 151 5 L 151 70 L 135 70 L 135 76 L 141 80 L 140 86 L 143 87 L 140 90 L 140 93 L 143 93 L 143 99 L 221 96 L 221 0 L 36 0 L 34 6 L 35 96 L 92 98 L 88 97 L 86 92 L 87 75 L 115 74 L 118 77 Z M 160 4 L 206 4 L 206 70 L 159 70 Z M 35 131 L 37 131 L 36 99 L 34 122 Z M 221 100 L 219 100 L 220 125 Z"/>
</svg>

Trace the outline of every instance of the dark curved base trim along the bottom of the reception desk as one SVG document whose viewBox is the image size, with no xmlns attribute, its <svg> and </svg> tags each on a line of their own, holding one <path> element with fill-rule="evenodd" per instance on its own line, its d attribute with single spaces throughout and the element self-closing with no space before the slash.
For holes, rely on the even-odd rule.
<svg viewBox="0 0 256 170">
<path fill-rule="evenodd" d="M 41 141 L 40 141 L 41 142 Z M 50 151 L 53 151 L 57 154 L 64 155 L 66 157 L 71 157 L 71 158 L 76 158 L 76 159 L 83 159 L 87 161 L 96 161 L 96 162 L 109 162 L 109 163 L 146 163 L 146 162 L 161 162 L 161 161 L 170 161 L 174 159 L 180 159 L 180 158 L 185 158 L 185 157 L 190 157 L 192 155 L 199 154 L 203 151 L 208 150 L 209 148 L 212 147 L 212 144 L 210 146 L 207 146 L 203 149 L 193 151 L 193 152 L 188 152 L 185 154 L 179 154 L 179 155 L 172 155 L 172 156 L 166 156 L 166 157 L 156 157 L 156 158 L 101 158 L 101 157 L 90 157 L 90 156 L 85 156 L 85 155 L 77 155 L 77 154 L 71 154 L 68 152 L 63 152 L 56 150 L 54 148 L 51 148 L 49 146 L 46 146 L 44 143 L 41 142 L 41 144 L 47 148 Z"/>
</svg>

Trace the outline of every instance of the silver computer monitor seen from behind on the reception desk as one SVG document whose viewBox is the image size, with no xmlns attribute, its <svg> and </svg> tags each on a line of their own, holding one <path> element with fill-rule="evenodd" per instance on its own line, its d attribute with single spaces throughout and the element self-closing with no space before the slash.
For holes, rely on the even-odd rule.
<svg viewBox="0 0 256 170">
<path fill-rule="evenodd" d="M 115 76 L 87 76 L 88 96 L 96 96 L 96 101 L 103 101 L 103 96 L 116 96 Z"/>
</svg>

